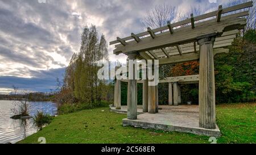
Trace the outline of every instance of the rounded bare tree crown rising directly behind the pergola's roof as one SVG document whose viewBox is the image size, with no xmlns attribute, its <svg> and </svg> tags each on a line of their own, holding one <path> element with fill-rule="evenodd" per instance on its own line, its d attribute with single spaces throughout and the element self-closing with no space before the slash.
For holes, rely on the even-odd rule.
<svg viewBox="0 0 256 155">
<path fill-rule="evenodd" d="M 154 9 L 147 13 L 147 16 L 142 19 L 142 24 L 145 28 L 157 28 L 167 25 L 167 22 L 172 22 L 177 16 L 177 8 L 175 6 L 156 5 Z"/>
</svg>

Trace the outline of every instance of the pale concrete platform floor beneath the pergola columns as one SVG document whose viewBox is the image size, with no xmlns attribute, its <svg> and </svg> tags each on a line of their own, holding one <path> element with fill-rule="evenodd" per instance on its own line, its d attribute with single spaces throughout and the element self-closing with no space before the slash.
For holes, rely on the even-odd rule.
<svg viewBox="0 0 256 155">
<path fill-rule="evenodd" d="M 127 113 L 127 107 L 122 106 L 118 113 Z M 110 109 L 112 109 L 110 108 Z M 160 129 L 164 131 L 187 132 L 196 135 L 220 137 L 221 132 L 216 125 L 216 129 L 205 129 L 199 127 L 199 107 L 197 105 L 187 106 L 159 106 L 161 110 L 157 114 L 142 112 L 142 107 L 138 106 L 138 119 L 123 119 L 123 125 L 134 127 Z M 122 112 L 121 112 L 122 111 Z"/>
</svg>

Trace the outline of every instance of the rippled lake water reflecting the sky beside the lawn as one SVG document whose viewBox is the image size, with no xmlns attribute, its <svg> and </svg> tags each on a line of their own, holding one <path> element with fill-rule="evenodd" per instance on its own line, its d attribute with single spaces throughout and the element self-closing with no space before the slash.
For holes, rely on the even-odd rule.
<svg viewBox="0 0 256 155">
<path fill-rule="evenodd" d="M 11 108 L 18 103 L 13 100 L 0 100 L 0 144 L 16 143 L 38 131 L 33 119 L 10 119 L 14 115 Z M 30 116 L 34 116 L 38 110 L 50 115 L 57 112 L 56 104 L 52 102 L 29 102 L 28 105 Z"/>
</svg>

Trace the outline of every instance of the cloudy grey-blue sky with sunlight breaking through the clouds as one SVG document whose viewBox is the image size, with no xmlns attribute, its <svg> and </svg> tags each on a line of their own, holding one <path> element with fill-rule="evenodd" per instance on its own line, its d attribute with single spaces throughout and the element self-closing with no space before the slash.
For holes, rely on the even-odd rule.
<svg viewBox="0 0 256 155">
<path fill-rule="evenodd" d="M 229 0 L 0 0 L 0 94 L 13 85 L 23 91 L 47 92 L 63 78 L 74 52 L 80 49 L 84 26 L 96 25 L 99 36 L 113 41 L 143 31 L 141 19 L 156 5 L 176 6 L 181 14 L 191 6 L 213 11 Z M 125 62 L 124 55 L 111 61 Z"/>
</svg>

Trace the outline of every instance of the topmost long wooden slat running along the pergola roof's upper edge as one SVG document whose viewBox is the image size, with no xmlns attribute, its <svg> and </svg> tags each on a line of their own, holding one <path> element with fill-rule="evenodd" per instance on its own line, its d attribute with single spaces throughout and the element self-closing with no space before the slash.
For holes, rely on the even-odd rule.
<svg viewBox="0 0 256 155">
<path fill-rule="evenodd" d="M 232 12 L 232 11 L 240 10 L 240 9 L 245 9 L 245 8 L 251 7 L 251 6 L 253 6 L 253 2 L 252 1 L 246 2 L 246 3 L 242 3 L 242 4 L 236 5 L 236 6 L 231 6 L 231 7 L 222 9 L 222 14 L 225 14 L 227 12 Z M 194 20 L 196 22 L 198 20 L 203 20 L 203 19 L 206 19 L 206 18 L 210 18 L 210 17 L 216 16 L 217 13 L 218 13 L 218 11 L 208 12 L 207 14 L 195 16 Z M 191 19 L 185 19 L 185 20 L 182 20 L 180 22 L 173 23 L 172 27 L 177 27 L 177 26 L 181 26 L 181 25 L 184 25 L 184 24 L 188 24 L 188 23 L 191 23 Z M 159 31 L 163 31 L 163 30 L 167 30 L 167 29 L 168 29 L 168 26 L 163 26 L 163 27 L 155 28 L 152 31 L 153 32 L 159 32 Z M 141 33 L 138 33 L 137 36 L 141 37 L 141 36 L 145 36 L 147 34 L 148 34 L 148 32 L 141 32 Z M 123 38 L 123 40 L 125 40 L 125 41 L 126 40 L 130 40 L 130 39 L 133 39 L 133 38 L 131 36 Z M 117 41 L 117 40 L 110 41 L 110 45 L 117 44 L 117 43 L 119 43 L 119 41 Z"/>
</svg>

